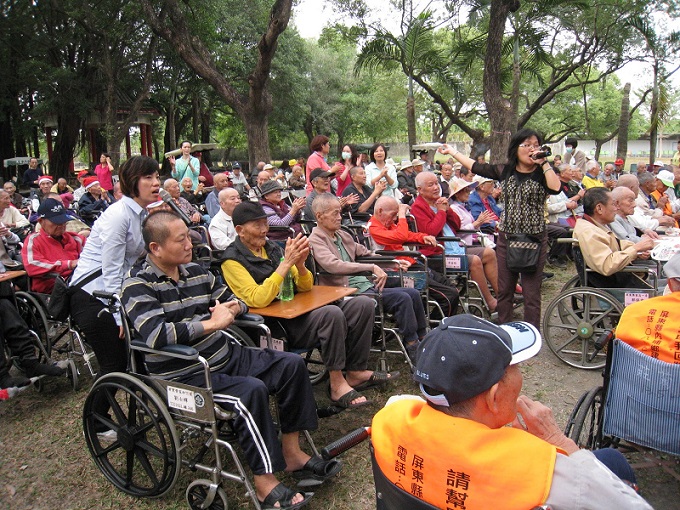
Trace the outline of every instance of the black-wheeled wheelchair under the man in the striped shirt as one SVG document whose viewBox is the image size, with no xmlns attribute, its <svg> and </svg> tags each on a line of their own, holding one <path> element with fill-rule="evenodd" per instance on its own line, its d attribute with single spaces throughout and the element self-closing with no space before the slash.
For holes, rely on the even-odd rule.
<svg viewBox="0 0 680 510">
<path fill-rule="evenodd" d="M 129 319 L 118 295 L 98 291 L 93 295 L 107 300 L 109 311 L 121 314 L 129 354 L 128 371 L 99 378 L 83 407 L 85 441 L 104 477 L 126 494 L 156 498 L 173 488 L 180 468 L 187 466 L 206 476 L 187 487 L 185 496 L 190 508 L 226 509 L 227 496 L 221 483 L 230 480 L 243 484 L 255 508 L 260 510 L 254 485 L 236 447 L 230 443 L 235 439 L 229 425 L 233 415 L 213 400 L 208 362 L 191 346 L 168 345 L 156 350 L 142 341 L 132 340 Z M 247 318 L 234 324 L 239 327 L 261 320 L 259 316 L 247 314 Z M 231 326 L 228 332 L 233 334 Z M 206 386 L 189 386 L 147 375 L 142 361 L 144 354 L 200 363 Z M 110 418 L 96 411 L 94 402 L 98 399 L 106 399 L 111 405 Z M 100 437 L 98 426 L 113 431 L 114 437 Z M 309 432 L 303 432 L 313 454 L 319 455 Z M 191 453 L 196 450 L 195 454 L 184 458 L 196 442 L 200 446 L 191 449 Z M 225 468 L 229 461 L 233 463 L 232 471 Z"/>
</svg>

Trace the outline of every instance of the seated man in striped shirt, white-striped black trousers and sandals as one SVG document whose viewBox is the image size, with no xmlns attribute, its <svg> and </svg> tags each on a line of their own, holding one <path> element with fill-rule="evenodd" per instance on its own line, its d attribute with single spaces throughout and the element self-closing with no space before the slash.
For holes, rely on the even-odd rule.
<svg viewBox="0 0 680 510">
<path fill-rule="evenodd" d="M 160 212 L 143 226 L 148 255 L 131 270 L 122 302 L 139 338 L 160 349 L 173 344 L 194 347 L 211 371 L 213 400 L 235 414 L 233 429 L 254 473 L 262 508 L 293 509 L 310 494 L 289 489 L 274 473 L 286 470 L 317 483 L 337 474 L 338 461 L 323 461 L 301 450 L 299 431 L 317 428 L 312 388 L 303 359 L 295 354 L 246 348 L 224 333 L 247 310 L 215 277 L 191 263 L 188 229 L 175 214 Z M 146 355 L 147 370 L 163 379 L 205 386 L 203 368 L 167 356 Z M 281 443 L 269 411 L 277 397 Z"/>
</svg>

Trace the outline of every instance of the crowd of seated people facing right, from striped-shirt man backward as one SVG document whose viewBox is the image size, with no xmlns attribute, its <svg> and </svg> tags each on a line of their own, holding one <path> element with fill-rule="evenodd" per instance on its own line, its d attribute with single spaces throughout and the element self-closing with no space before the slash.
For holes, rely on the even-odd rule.
<svg viewBox="0 0 680 510">
<path fill-rule="evenodd" d="M 300 181 L 303 166 L 298 164 L 291 165 L 288 162 L 288 168 L 291 169 L 288 176 L 285 171 L 278 172 L 276 168 L 268 168 L 272 165 L 265 164 L 257 174 L 257 181 L 253 186 L 255 191 L 253 201 L 241 201 L 241 194 L 248 191 L 245 188 L 247 183 L 239 190 L 232 179 L 235 172 L 231 176 L 228 174 L 214 176 L 214 189 L 205 197 L 206 203 L 209 198 L 211 199 L 213 207 L 209 232 L 213 246 L 225 250 L 221 268 L 230 290 L 220 286 L 214 276 L 191 264 L 191 243 L 187 228 L 177 215 L 167 210 L 150 216 L 152 219 L 144 222 L 141 232 L 138 232 L 139 229 L 136 231 L 142 236 L 146 256 L 134 267 L 129 267 L 133 255 L 143 254 L 140 240 L 133 240 L 135 246 L 126 247 L 124 260 L 124 265 L 130 268 L 130 272 L 124 280 L 120 279 L 120 271 L 115 275 L 116 287 L 122 289 L 126 308 L 140 335 L 150 346 L 172 342 L 187 343 L 198 346 L 197 348 L 209 359 L 213 368 L 215 401 L 229 410 L 237 411 L 237 414 L 242 413 L 237 417 L 237 421 L 242 420 L 243 423 L 237 425 L 236 433 L 255 474 L 258 499 L 271 504 L 281 503 L 284 508 L 303 502 L 306 495 L 280 485 L 273 475 L 274 472 L 285 469 L 291 471 L 296 478 L 313 475 L 317 479 L 325 480 L 331 473 L 339 471 L 339 464 L 332 464 L 337 461 L 322 461 L 310 457 L 299 451 L 299 445 L 295 446 L 298 444 L 299 431 L 316 428 L 315 410 L 312 405 L 314 397 L 309 388 L 306 370 L 298 356 L 259 350 L 250 352 L 228 340 L 219 330 L 225 329 L 237 315 L 246 310 L 247 306 L 264 307 L 270 304 L 276 298 L 287 274 L 292 276 L 296 292 L 309 291 L 313 275 L 305 266 L 305 261 L 311 249 L 316 264 L 322 270 L 319 276 L 321 284 L 352 286 L 359 292 L 352 299 L 326 305 L 288 322 L 279 321 L 279 327 L 284 329 L 292 348 L 306 349 L 320 346 L 323 362 L 330 372 L 329 396 L 334 405 L 342 408 L 366 405 L 369 401 L 362 393 L 365 389 L 383 386 L 398 375 L 371 371 L 367 367 L 371 345 L 370 325 L 375 315 L 375 304 L 369 297 L 371 293 L 380 292 L 385 309 L 394 312 L 407 351 L 414 362 L 419 344 L 427 333 L 428 324 L 422 297 L 415 289 L 400 287 L 393 282 L 388 283 L 387 274 L 380 266 L 357 260 L 357 257 L 371 255 L 372 252 L 341 229 L 343 210 L 372 214 L 368 230 L 380 247 L 401 250 L 404 244 L 414 242 L 420 244 L 420 250 L 426 254 L 437 252 L 435 239 L 437 236 L 460 236 L 464 242 L 472 244 L 473 235 L 461 231 L 485 229 L 486 232 L 493 233 L 503 215 L 502 209 L 493 197 L 495 188 L 492 179 L 475 178 L 471 172 L 465 175 L 461 172 L 461 177 L 456 177 L 452 165 L 448 165 L 442 176 L 439 176 L 431 170 L 424 170 L 425 164 L 422 160 L 413 162 L 405 160 L 401 165 L 401 171 L 406 170 L 404 175 L 409 178 L 412 176 L 414 185 L 413 189 L 409 189 L 409 186 L 400 186 L 402 183 L 408 183 L 408 180 L 399 179 L 401 174 L 395 174 L 396 178 L 391 177 L 392 165 L 386 161 L 386 151 L 381 144 L 377 144 L 372 154 L 375 166 L 370 169 L 374 175 L 372 179 L 367 178 L 368 172 L 360 163 L 361 158 L 353 154 L 353 148 L 350 146 L 345 148 L 348 149 L 349 157 L 344 157 L 343 154 L 342 167 L 334 165 L 334 168 L 338 167 L 334 172 L 321 167 L 312 169 L 309 172 L 311 194 L 307 198 L 291 198 L 290 202 L 282 199 L 282 193 L 286 188 L 294 188 L 292 183 L 295 179 Z M 320 152 L 327 154 L 325 149 Z M 165 180 L 163 186 L 177 207 L 193 222 L 199 223 L 204 218 L 195 206 L 203 201 L 201 195 L 205 186 L 201 181 L 195 183 L 193 176 L 187 175 L 188 172 L 193 173 L 193 159 L 195 159 L 193 156 L 186 158 L 184 176 L 178 175 L 182 183 L 181 188 L 178 180 L 174 178 Z M 353 166 L 347 168 L 348 163 L 352 163 Z M 177 171 L 178 166 L 176 162 L 174 171 L 181 174 Z M 564 172 L 560 168 L 560 174 L 564 173 L 568 177 L 571 168 L 568 165 L 562 167 L 566 168 Z M 588 170 L 586 178 L 595 180 L 596 167 L 587 165 L 586 168 Z M 234 169 L 232 165 L 232 171 Z M 237 170 L 240 171 L 240 168 Z M 342 180 L 345 172 L 349 176 L 345 176 L 349 183 L 346 183 L 339 193 L 342 196 L 337 197 L 331 191 L 333 187 L 330 181 L 338 180 L 338 177 Z M 558 219 L 555 223 L 559 224 L 559 213 L 563 211 L 556 211 L 556 208 L 551 211 L 549 207 L 551 203 L 561 204 L 560 207 L 564 207 L 564 211 L 572 211 L 579 207 L 578 202 L 583 202 L 584 216 L 576 221 L 574 237 L 588 239 L 588 243 L 582 243 L 585 245 L 582 249 L 584 259 L 590 267 L 606 276 L 614 275 L 621 267 L 635 259 L 646 258 L 653 246 L 655 235 L 653 231 L 647 229 L 640 233 L 635 230 L 632 221 L 629 222 L 629 218 L 635 213 L 636 195 L 626 186 L 624 177 L 622 175 L 617 179 L 618 187 L 614 187 L 613 192 L 609 192 L 607 186 L 593 185 L 590 186 L 592 189 L 583 193 L 581 191 L 583 188 L 576 185 L 578 191 L 571 194 L 571 197 L 565 191 L 566 188 L 569 189 L 569 193 L 574 191 L 572 180 L 569 179 L 569 182 L 564 183 L 565 188 L 560 195 L 551 196 L 546 203 L 546 211 L 557 214 Z M 641 179 L 645 183 L 644 191 L 641 193 L 644 194 L 649 210 L 662 210 L 661 215 L 651 213 L 645 216 L 673 219 L 676 212 L 673 211 L 672 201 L 670 198 L 664 198 L 668 196 L 667 191 L 671 186 L 667 182 L 667 176 L 663 177 L 666 178 L 665 181 L 661 178 L 655 178 L 653 181 L 654 191 L 648 178 Z M 43 176 L 36 180 L 41 193 L 41 203 L 36 211 L 40 230 L 29 235 L 24 242 L 23 260 L 32 279 L 32 289 L 36 292 L 49 293 L 55 275 L 68 277 L 78 266 L 86 239 L 67 229 L 67 223 L 72 221 L 73 217 L 68 214 L 67 207 L 63 204 L 63 195 L 74 191 L 64 188 L 63 183 L 62 186 L 58 186 L 57 183 L 54 185 L 57 187 L 56 191 L 44 192 L 43 185 L 46 185 L 49 179 Z M 108 190 L 102 189 L 97 177 L 82 176 L 79 180 L 84 188 L 84 193 L 78 200 L 81 212 L 90 212 L 90 209 L 103 212 L 115 202 L 108 194 Z M 51 180 L 49 182 L 51 184 Z M 299 185 L 298 182 L 297 186 Z M 119 204 L 121 207 L 118 209 L 122 210 L 124 205 L 132 211 L 126 212 L 129 217 L 143 218 L 145 214 L 136 206 L 148 205 L 152 203 L 152 199 L 157 199 L 157 186 L 157 175 L 151 172 L 151 167 L 145 168 L 141 174 L 135 176 L 134 181 L 126 184 L 127 200 Z M 404 190 L 411 195 L 410 199 Z M 397 195 L 395 191 L 402 194 Z M 444 196 L 442 192 L 445 192 Z M 470 204 L 472 195 L 475 196 L 474 204 Z M 411 206 L 402 203 L 405 197 L 408 202 L 412 202 Z M 553 197 L 559 198 L 553 200 Z M 215 201 L 218 206 L 216 211 Z M 136 205 L 131 202 L 135 202 Z M 667 204 L 669 207 L 665 207 Z M 3 222 L 8 208 L 14 208 L 11 205 L 11 196 L 9 192 L 0 191 L 0 213 L 3 213 Z M 298 222 L 305 208 L 311 211 L 308 218 L 317 224 L 309 238 L 302 234 Z M 19 218 L 14 211 L 9 214 L 10 219 L 15 221 L 7 223 L 7 226 L 19 226 Z M 416 218 L 418 232 L 408 230 L 406 216 L 409 214 Z M 23 215 L 20 216 L 24 218 Z M 112 222 L 113 217 L 111 213 L 107 214 L 105 219 Z M 552 219 L 546 214 L 546 222 Z M 658 224 L 660 222 L 657 220 Z M 621 234 L 615 225 L 618 225 Z M 294 234 L 285 233 L 277 238 L 276 234 L 270 231 L 270 226 L 289 226 Z M 0 233 L 4 235 L 5 230 Z M 614 234 L 619 237 L 626 236 L 625 240 L 614 241 Z M 96 262 L 101 265 L 104 251 L 110 258 L 112 250 L 108 247 L 105 249 L 102 244 L 104 237 L 104 231 L 97 232 L 96 242 L 100 246 L 94 250 L 101 253 L 98 257 L 93 257 L 92 253 L 86 257 L 88 268 L 81 269 L 79 274 L 81 279 L 87 271 L 95 269 Z M 285 244 L 281 246 L 271 240 L 283 241 Z M 460 253 L 459 248 L 451 248 L 448 243 L 445 243 L 445 249 Z M 498 292 L 498 268 L 493 243 L 485 242 L 481 246 L 470 246 L 467 255 L 470 275 L 479 284 L 490 310 L 493 311 L 496 304 L 493 293 Z M 399 260 L 398 263 L 400 268 L 408 269 L 414 261 L 406 258 Z M 675 265 L 680 267 L 680 262 Z M 439 269 L 441 272 L 430 271 L 428 279 L 433 289 L 439 288 L 442 292 L 447 315 L 453 315 L 456 313 L 457 292 L 449 286 L 446 276 L 442 274 L 444 268 Z M 355 276 L 357 270 L 371 273 L 373 279 Z M 671 290 L 676 293 L 680 290 L 675 283 L 680 278 L 680 270 L 673 270 L 671 267 L 669 273 L 672 274 L 670 278 L 674 282 Z M 170 280 L 174 282 L 173 285 L 167 284 Z M 617 284 L 620 282 L 617 281 Z M 91 290 L 83 291 L 80 299 L 88 302 L 90 312 L 95 308 L 99 311 L 101 310 L 99 305 L 93 305 L 90 299 Z M 447 290 L 451 292 L 447 293 Z M 234 296 L 231 296 L 231 292 Z M 191 307 L 177 309 L 173 305 L 176 303 L 175 294 L 191 295 L 196 298 L 195 303 Z M 238 300 L 233 300 L 232 297 Z M 677 297 L 674 296 L 673 299 L 677 300 Z M 669 302 L 674 303 L 671 300 Z M 151 322 L 147 320 L 150 312 L 153 312 L 155 317 Z M 85 319 L 81 318 L 81 321 Z M 110 330 L 107 331 L 107 338 L 113 338 L 117 326 L 115 319 L 108 320 L 106 326 L 107 330 Z M 16 349 L 20 351 L 21 346 Z M 101 345 L 98 351 L 99 356 L 106 355 Z M 677 353 L 674 355 L 677 357 Z M 242 360 L 245 361 L 242 363 Z M 33 367 L 32 371 L 29 371 L 34 374 L 62 373 L 61 369 L 57 373 L 56 368 L 37 366 L 37 361 L 28 357 L 22 362 L 26 367 Z M 117 368 L 113 366 L 116 363 L 112 363 L 106 367 L 107 370 L 120 369 L 120 356 L 116 362 Z M 176 367 L 169 368 L 169 365 L 164 365 L 163 362 L 152 364 L 151 368 L 154 373 L 171 375 L 190 384 L 199 384 L 195 367 L 172 374 L 169 372 L 177 370 Z M 505 370 L 507 365 L 503 368 Z M 233 380 L 240 377 L 248 379 L 248 384 L 241 386 Z M 6 373 L 3 373 L 0 366 L 0 381 L 5 378 Z M 254 379 L 261 382 L 256 383 Z M 24 380 L 19 382 L 25 383 Z M 268 413 L 268 404 L 266 399 L 261 398 L 262 387 L 280 397 L 279 405 L 283 411 L 280 441 L 283 446 L 279 445 L 268 415 L 265 416 Z M 229 400 L 229 396 L 234 394 L 247 402 L 244 408 Z M 259 396 L 254 396 L 255 394 Z M 248 419 L 246 415 L 251 412 L 256 416 L 257 433 L 262 433 L 265 438 L 267 455 L 256 452 L 253 447 L 255 433 L 249 428 L 252 424 L 245 423 Z M 331 463 L 321 466 L 319 462 Z"/>
</svg>

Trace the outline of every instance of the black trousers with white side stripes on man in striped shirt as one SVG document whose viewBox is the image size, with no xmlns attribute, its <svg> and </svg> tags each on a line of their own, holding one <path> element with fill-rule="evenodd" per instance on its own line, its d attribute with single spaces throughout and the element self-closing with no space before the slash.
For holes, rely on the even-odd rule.
<svg viewBox="0 0 680 510">
<path fill-rule="evenodd" d="M 203 373 L 180 379 L 205 386 Z M 213 398 L 236 413 L 234 431 L 250 469 L 256 475 L 286 468 L 276 427 L 269 413 L 269 395 L 279 406 L 281 432 L 315 430 L 316 402 L 304 360 L 297 354 L 232 344 L 231 358 L 212 374 Z"/>
</svg>

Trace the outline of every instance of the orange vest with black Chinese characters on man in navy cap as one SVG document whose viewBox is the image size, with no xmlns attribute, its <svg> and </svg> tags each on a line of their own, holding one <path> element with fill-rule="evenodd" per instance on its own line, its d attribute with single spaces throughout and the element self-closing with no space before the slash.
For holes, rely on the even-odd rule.
<svg viewBox="0 0 680 510">
<path fill-rule="evenodd" d="M 557 448 L 522 430 L 455 418 L 422 400 L 399 400 L 373 417 L 385 476 L 442 509 L 528 510 L 552 484 Z"/>
</svg>

